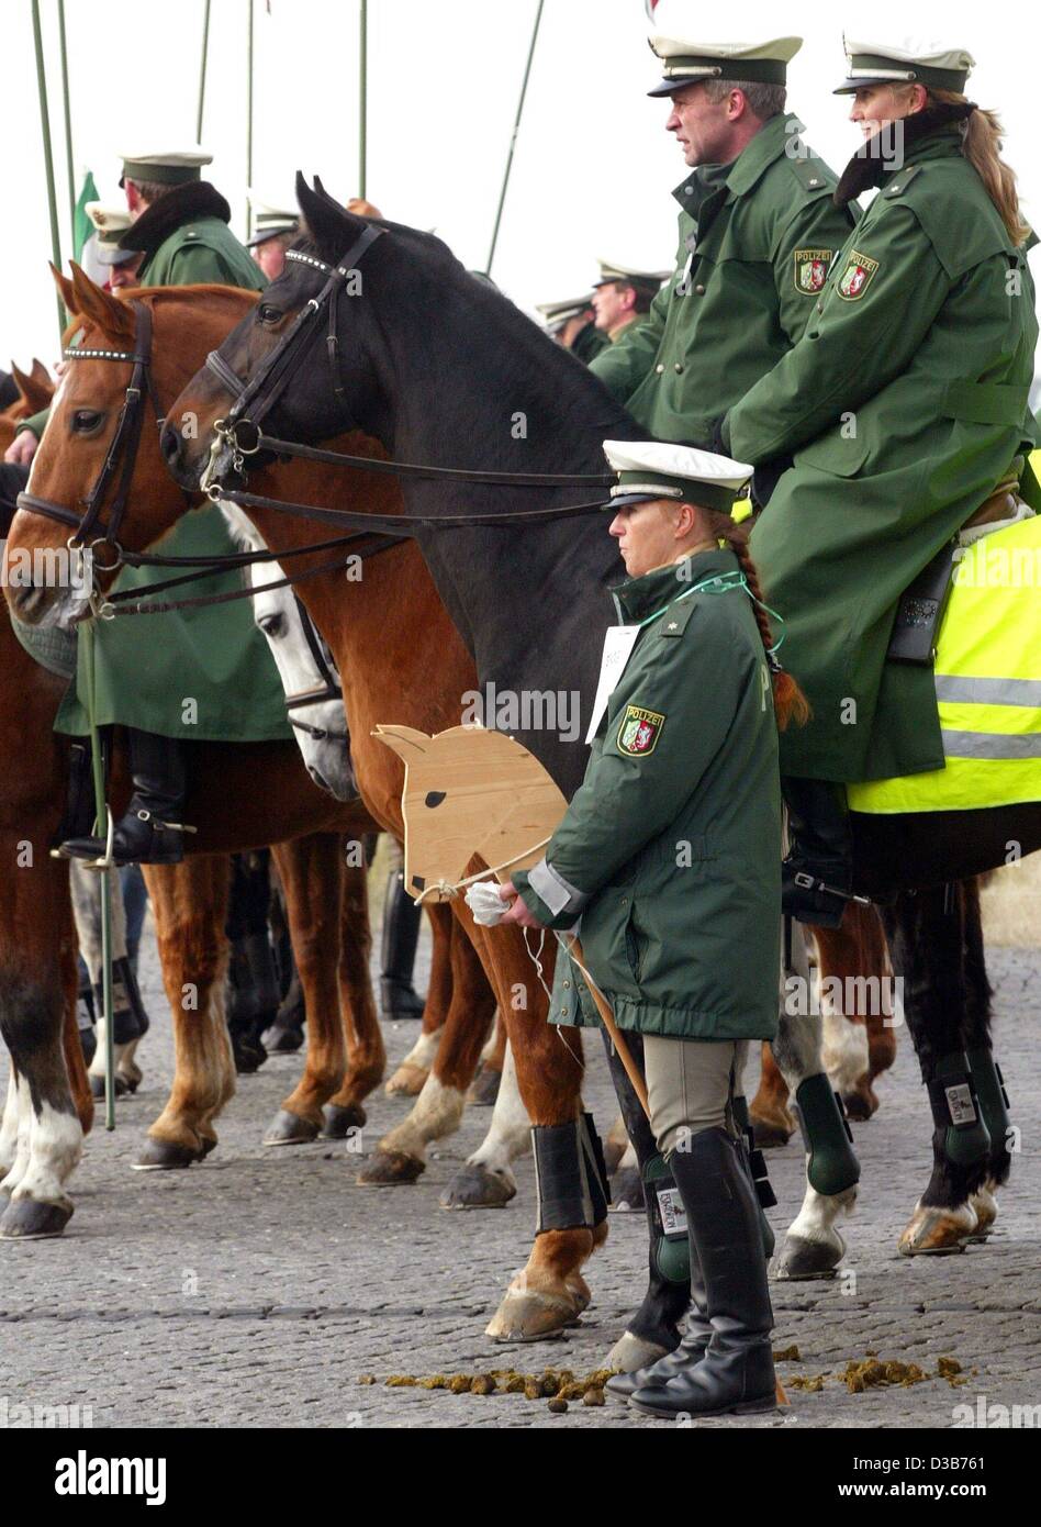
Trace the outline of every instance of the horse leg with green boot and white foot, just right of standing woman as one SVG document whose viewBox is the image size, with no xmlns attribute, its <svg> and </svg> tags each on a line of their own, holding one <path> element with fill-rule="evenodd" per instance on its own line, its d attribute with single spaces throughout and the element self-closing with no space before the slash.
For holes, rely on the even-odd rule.
<svg viewBox="0 0 1041 1527">
<path fill-rule="evenodd" d="M 806 1145 L 806 1194 L 777 1255 L 775 1277 L 830 1278 L 846 1252 L 836 1222 L 856 1203 L 859 1164 L 824 1070 L 821 1019 L 812 1000 L 809 957 L 798 925 L 791 930 L 788 959 L 772 1049 L 798 1109 Z"/>
</svg>

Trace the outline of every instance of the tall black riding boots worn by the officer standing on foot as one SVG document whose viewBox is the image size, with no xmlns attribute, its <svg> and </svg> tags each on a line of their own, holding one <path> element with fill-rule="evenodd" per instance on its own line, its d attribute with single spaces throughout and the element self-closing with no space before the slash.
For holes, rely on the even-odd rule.
<svg viewBox="0 0 1041 1527">
<path fill-rule="evenodd" d="M 759 1228 L 759 1202 L 740 1154 L 724 1128 L 699 1130 L 669 1157 L 687 1209 L 691 1261 L 705 1286 L 711 1339 L 701 1359 L 666 1383 L 630 1399 L 647 1416 L 745 1416 L 777 1403 L 769 1333 L 774 1312 Z"/>
</svg>

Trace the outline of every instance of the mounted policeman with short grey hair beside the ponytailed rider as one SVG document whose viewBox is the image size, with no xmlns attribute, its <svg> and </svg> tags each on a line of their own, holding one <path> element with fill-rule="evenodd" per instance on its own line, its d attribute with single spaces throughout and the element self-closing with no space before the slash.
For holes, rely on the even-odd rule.
<svg viewBox="0 0 1041 1527">
<path fill-rule="evenodd" d="M 785 111 L 797 37 L 653 37 L 666 128 L 690 174 L 676 273 L 591 370 L 659 440 L 708 444 L 713 423 L 801 337 L 855 221 L 835 176 Z M 766 495 L 762 483 L 756 484 Z"/>
</svg>

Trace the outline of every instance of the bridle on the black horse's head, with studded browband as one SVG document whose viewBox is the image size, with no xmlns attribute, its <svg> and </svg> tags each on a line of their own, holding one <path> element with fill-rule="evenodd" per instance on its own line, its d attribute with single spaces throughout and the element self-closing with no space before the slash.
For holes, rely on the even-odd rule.
<svg viewBox="0 0 1041 1527">
<path fill-rule="evenodd" d="M 311 266 L 325 275 L 325 286 L 317 296 L 310 298 L 299 310 L 290 327 L 285 330 L 275 348 L 264 356 L 256 371 L 244 382 L 238 373 L 229 366 L 220 350 L 211 350 L 206 356 L 206 370 L 212 371 L 217 380 L 234 397 L 234 403 L 224 418 L 214 420 L 214 441 L 209 447 L 209 461 L 203 472 L 200 487 L 206 493 L 214 486 L 214 472 L 221 449 L 227 444 L 234 454 L 232 464 L 237 472 L 243 469 L 243 458 L 256 455 L 261 449 L 259 426 L 279 400 L 285 386 L 293 377 L 295 365 L 302 351 L 310 345 L 314 324 L 325 307 L 328 307 L 328 328 L 325 331 L 325 348 L 330 360 L 333 392 L 337 403 L 346 411 L 346 392 L 340 377 L 337 304 L 350 276 L 357 273 L 357 263 L 377 238 L 382 228 L 368 228 L 354 240 L 342 260 L 334 266 L 325 264 L 314 255 L 305 255 L 299 249 L 287 249 L 285 258 L 302 266 Z M 249 417 L 246 417 L 249 409 Z M 252 434 L 250 434 L 252 431 Z"/>
</svg>

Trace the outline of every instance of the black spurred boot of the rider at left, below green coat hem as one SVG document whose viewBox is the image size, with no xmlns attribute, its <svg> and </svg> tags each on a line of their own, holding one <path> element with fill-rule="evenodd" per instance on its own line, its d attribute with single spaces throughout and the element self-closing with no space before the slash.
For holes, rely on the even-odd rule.
<svg viewBox="0 0 1041 1527">
<path fill-rule="evenodd" d="M 180 864 L 185 857 L 185 754 L 174 738 L 127 728 L 134 793 L 116 823 L 111 854 L 116 864 Z M 102 858 L 105 838 L 69 838 L 69 858 Z"/>
</svg>

